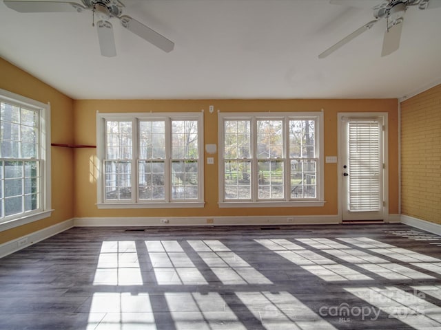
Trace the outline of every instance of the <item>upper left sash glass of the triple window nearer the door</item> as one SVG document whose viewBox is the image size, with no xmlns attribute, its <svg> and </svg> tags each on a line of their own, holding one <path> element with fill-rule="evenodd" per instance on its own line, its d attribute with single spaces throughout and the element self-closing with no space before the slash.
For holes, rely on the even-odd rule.
<svg viewBox="0 0 441 330">
<path fill-rule="evenodd" d="M 225 120 L 224 155 L 227 159 L 251 157 L 251 122 Z"/>
</svg>

